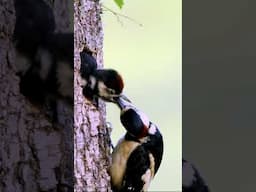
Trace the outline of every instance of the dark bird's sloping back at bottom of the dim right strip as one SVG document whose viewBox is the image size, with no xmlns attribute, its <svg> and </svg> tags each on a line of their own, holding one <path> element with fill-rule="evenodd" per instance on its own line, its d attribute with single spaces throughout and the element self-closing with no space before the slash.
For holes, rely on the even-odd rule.
<svg viewBox="0 0 256 192">
<path fill-rule="evenodd" d="M 209 192 L 209 188 L 199 171 L 185 159 L 182 159 L 182 192 Z"/>
</svg>

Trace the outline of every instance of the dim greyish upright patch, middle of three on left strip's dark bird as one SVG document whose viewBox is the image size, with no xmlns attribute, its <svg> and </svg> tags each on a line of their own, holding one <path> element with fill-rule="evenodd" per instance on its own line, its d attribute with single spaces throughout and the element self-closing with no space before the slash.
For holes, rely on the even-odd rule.
<svg viewBox="0 0 256 192">
<path fill-rule="evenodd" d="M 39 75 L 43 80 L 45 80 L 52 67 L 52 56 L 48 50 L 39 48 L 36 54 L 36 59 L 41 66 Z"/>
</svg>

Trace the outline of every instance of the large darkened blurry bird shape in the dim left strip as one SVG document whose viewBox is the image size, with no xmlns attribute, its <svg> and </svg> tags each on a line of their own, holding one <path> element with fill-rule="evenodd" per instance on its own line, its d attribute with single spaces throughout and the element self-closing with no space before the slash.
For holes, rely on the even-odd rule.
<svg viewBox="0 0 256 192">
<path fill-rule="evenodd" d="M 43 0 L 15 0 L 13 34 L 20 92 L 40 108 L 73 104 L 73 33 L 55 33 L 52 8 Z M 55 117 L 54 117 L 55 118 Z"/>
</svg>

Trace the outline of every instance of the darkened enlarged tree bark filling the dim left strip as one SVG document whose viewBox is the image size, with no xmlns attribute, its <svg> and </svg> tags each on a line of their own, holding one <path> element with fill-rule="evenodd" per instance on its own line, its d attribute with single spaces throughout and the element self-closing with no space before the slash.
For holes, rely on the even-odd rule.
<svg viewBox="0 0 256 192">
<path fill-rule="evenodd" d="M 57 3 L 55 15 L 62 19 L 57 30 L 62 31 L 70 23 L 65 11 L 68 1 Z M 42 111 L 20 94 L 11 43 L 14 24 L 13 1 L 1 0 L 0 191 L 73 191 L 73 111 L 60 101 L 62 124 L 54 130 Z"/>
</svg>

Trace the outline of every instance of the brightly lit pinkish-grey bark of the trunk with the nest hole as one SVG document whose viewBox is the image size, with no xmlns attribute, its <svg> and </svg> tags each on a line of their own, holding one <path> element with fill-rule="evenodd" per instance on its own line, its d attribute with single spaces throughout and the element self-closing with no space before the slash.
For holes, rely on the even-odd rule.
<svg viewBox="0 0 256 192">
<path fill-rule="evenodd" d="M 111 191 L 107 168 L 110 162 L 109 132 L 105 126 L 105 104 L 99 110 L 82 95 L 79 75 L 79 52 L 87 47 L 102 67 L 103 32 L 101 7 L 97 0 L 74 2 L 75 32 L 75 104 L 74 104 L 74 171 L 75 191 Z"/>
</svg>

